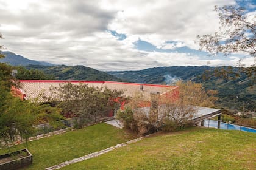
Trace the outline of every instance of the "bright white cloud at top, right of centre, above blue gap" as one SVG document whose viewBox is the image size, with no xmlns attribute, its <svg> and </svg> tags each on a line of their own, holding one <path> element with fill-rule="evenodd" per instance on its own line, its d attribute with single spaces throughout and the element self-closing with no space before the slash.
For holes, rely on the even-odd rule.
<svg viewBox="0 0 256 170">
<path fill-rule="evenodd" d="M 157 47 L 166 41 L 182 41 L 194 48 L 196 35 L 219 28 L 214 5 L 229 4 L 235 1 L 115 1 L 106 6 L 119 10 L 109 24 L 112 30 L 137 35 Z"/>
</svg>

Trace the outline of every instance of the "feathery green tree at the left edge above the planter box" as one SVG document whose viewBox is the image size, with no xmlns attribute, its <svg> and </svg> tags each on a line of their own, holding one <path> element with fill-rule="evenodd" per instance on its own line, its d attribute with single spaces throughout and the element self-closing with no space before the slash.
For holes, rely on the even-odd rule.
<svg viewBox="0 0 256 170">
<path fill-rule="evenodd" d="M 12 86 L 17 86 L 16 79 L 12 76 L 12 66 L 0 63 L 0 148 L 17 140 L 27 141 L 34 135 L 35 124 L 62 118 L 59 109 L 15 97 L 11 92 Z"/>
</svg>

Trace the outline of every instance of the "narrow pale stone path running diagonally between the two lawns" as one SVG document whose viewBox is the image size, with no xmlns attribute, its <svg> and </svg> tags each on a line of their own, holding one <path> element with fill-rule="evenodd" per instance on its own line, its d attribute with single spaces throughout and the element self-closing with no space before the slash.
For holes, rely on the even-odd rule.
<svg viewBox="0 0 256 170">
<path fill-rule="evenodd" d="M 116 144 L 116 146 L 111 146 L 107 149 L 103 149 L 101 151 L 98 151 L 98 152 L 93 152 L 91 154 L 88 154 L 88 155 L 84 155 L 82 157 L 79 157 L 79 158 L 74 158 L 73 160 L 69 160 L 69 161 L 64 161 L 58 165 L 54 165 L 54 166 L 51 166 L 51 167 L 48 167 L 46 168 L 46 170 L 53 170 L 53 169 L 60 169 L 60 168 L 63 168 L 64 166 L 67 166 L 67 165 L 71 165 L 73 163 L 77 163 L 79 161 L 84 161 L 84 160 L 88 160 L 90 158 L 94 158 L 94 157 L 98 157 L 99 155 L 102 155 L 102 154 L 105 154 L 109 151 L 113 151 L 114 149 L 116 148 L 121 148 L 123 146 L 126 146 L 127 144 L 130 144 L 130 143 L 135 143 L 137 141 L 140 141 L 143 137 L 140 137 L 140 138 L 136 138 L 136 139 L 133 139 L 133 140 L 130 140 L 130 141 L 127 141 L 125 143 L 121 143 L 121 144 Z"/>
</svg>

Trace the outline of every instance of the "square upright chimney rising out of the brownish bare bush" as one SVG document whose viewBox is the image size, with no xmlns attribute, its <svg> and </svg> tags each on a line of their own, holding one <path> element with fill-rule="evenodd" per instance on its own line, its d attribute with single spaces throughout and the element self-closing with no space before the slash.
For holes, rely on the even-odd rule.
<svg viewBox="0 0 256 170">
<path fill-rule="evenodd" d="M 151 124 L 157 123 L 158 119 L 158 105 L 160 100 L 160 92 L 151 92 L 151 105 L 150 105 L 150 111 L 149 111 L 149 119 L 151 121 Z"/>
</svg>

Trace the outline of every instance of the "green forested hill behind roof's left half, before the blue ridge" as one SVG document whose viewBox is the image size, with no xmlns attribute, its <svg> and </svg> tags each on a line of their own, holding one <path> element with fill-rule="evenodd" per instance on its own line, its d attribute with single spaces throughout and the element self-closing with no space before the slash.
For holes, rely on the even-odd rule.
<svg viewBox="0 0 256 170">
<path fill-rule="evenodd" d="M 38 69 L 47 75 L 52 75 L 56 80 L 105 80 L 123 81 L 108 73 L 85 66 L 26 66 L 26 69 Z"/>
</svg>

